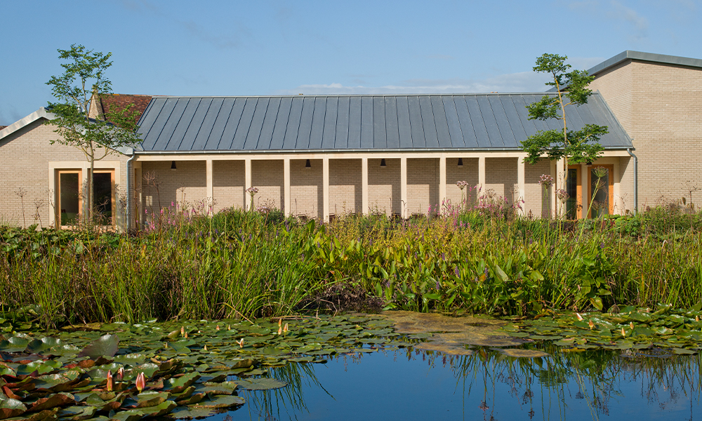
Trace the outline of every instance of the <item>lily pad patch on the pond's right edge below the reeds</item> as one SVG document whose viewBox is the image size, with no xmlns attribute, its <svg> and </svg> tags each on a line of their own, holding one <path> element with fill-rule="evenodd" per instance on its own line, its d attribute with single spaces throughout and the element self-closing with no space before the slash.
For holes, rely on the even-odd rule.
<svg viewBox="0 0 702 421">
<path fill-rule="evenodd" d="M 501 330 L 515 338 L 550 341 L 564 351 L 663 348 L 673 354 L 696 354 L 702 349 L 701 307 L 627 306 L 618 313 L 553 313 Z"/>
</svg>

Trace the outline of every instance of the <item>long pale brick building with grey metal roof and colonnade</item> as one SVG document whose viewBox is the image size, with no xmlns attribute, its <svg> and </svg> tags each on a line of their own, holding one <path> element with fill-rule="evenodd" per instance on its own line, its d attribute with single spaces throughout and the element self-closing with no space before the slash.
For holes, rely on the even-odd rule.
<svg viewBox="0 0 702 421">
<path fill-rule="evenodd" d="M 597 123 L 609 134 L 598 161 L 568 170 L 576 207 L 588 208 L 595 167 L 607 168 L 607 188 L 596 200 L 608 213 L 653 204 L 660 196 L 679 198 L 687 185 L 702 182 L 701 71 L 702 60 L 634 51 L 590 69 L 597 92 L 587 105 L 567 108 L 569 128 Z M 563 179 L 554 162 L 524 164 L 519 150 L 528 135 L 559 128 L 557 121 L 528 119 L 525 105 L 542 95 L 114 95 L 108 102 L 132 101 L 143 109 L 143 142 L 96 162 L 102 175 L 96 171 L 95 177 L 111 185 L 103 196 L 119 227 L 176 204 L 246 208 L 248 187 L 258 188 L 254 206 L 276 206 L 286 214 L 407 218 L 460 203 L 461 180 L 509 203 L 523 200 L 524 213 L 538 216 L 538 178 Z M 95 104 L 94 115 L 109 106 Z M 40 109 L 0 130 L 6 158 L 0 222 L 29 225 L 38 218 L 56 225 L 81 212 L 88 163 L 77 149 L 49 145 L 55 133 L 46 119 L 51 114 Z M 555 209 L 554 194 L 550 201 Z M 585 213 L 573 212 L 580 218 Z"/>
</svg>

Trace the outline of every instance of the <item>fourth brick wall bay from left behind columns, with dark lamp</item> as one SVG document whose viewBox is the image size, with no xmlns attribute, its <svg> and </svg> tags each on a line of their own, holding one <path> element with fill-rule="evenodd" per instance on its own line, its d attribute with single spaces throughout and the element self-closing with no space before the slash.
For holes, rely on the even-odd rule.
<svg viewBox="0 0 702 421">
<path fill-rule="evenodd" d="M 310 165 L 305 168 L 305 159 L 290 160 L 290 209 L 293 215 L 323 218 L 322 159 L 310 159 Z"/>
</svg>

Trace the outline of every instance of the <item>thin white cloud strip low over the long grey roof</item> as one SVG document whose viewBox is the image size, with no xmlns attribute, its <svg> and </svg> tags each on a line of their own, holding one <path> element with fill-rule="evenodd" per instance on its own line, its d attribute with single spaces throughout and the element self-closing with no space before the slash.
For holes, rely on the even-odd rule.
<svg viewBox="0 0 702 421">
<path fill-rule="evenodd" d="M 410 79 L 385 86 L 345 86 L 342 83 L 319 83 L 282 89 L 282 95 L 335 95 L 362 93 L 489 93 L 489 92 L 543 92 L 548 75 L 534 72 L 501 74 L 488 79 Z"/>
</svg>

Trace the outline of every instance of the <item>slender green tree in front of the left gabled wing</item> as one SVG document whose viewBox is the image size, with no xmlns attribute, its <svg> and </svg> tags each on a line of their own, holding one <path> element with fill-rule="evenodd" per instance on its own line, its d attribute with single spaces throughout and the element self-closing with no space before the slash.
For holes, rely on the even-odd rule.
<svg viewBox="0 0 702 421">
<path fill-rule="evenodd" d="M 110 107 L 104 119 L 90 117 L 93 95 L 102 98 L 112 93 L 112 83 L 105 71 L 112 66 L 112 53 L 103 54 L 73 44 L 69 50 L 58 50 L 64 72 L 51 76 L 47 85 L 58 102 L 49 102 L 48 109 L 55 118 L 47 124 L 55 126 L 60 138 L 51 140 L 61 145 L 77 147 L 90 163 L 88 175 L 86 221 L 92 221 L 93 173 L 95 161 L 105 158 L 119 147 L 133 146 L 140 141 L 136 135 L 137 112 L 132 112 L 133 104 L 123 107 Z M 98 115 L 96 113 L 95 115 Z"/>
</svg>

